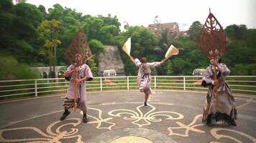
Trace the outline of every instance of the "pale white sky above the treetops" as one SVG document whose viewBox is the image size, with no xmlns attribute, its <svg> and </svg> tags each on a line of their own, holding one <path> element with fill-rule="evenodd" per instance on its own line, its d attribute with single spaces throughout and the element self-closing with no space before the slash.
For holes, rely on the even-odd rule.
<svg viewBox="0 0 256 143">
<path fill-rule="evenodd" d="M 256 29 L 256 0 L 27 0 L 27 3 L 41 4 L 46 9 L 60 4 L 83 15 L 111 14 L 117 16 L 122 27 L 124 21 L 130 26 L 148 26 L 158 16 L 161 23 L 177 22 L 181 31 L 188 30 L 193 21 L 204 24 L 211 8 L 224 28 L 245 24 L 248 29 Z"/>
</svg>

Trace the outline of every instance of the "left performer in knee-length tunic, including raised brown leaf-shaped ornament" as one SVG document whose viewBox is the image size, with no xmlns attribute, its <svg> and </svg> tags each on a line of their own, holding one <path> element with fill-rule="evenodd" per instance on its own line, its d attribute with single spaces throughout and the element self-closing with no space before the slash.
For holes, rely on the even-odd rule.
<svg viewBox="0 0 256 143">
<path fill-rule="evenodd" d="M 92 80 L 93 75 L 90 67 L 85 63 L 92 57 L 92 54 L 83 36 L 83 29 L 78 31 L 77 36 L 73 39 L 65 54 L 72 64 L 65 71 L 65 79 L 70 82 L 63 103 L 65 111 L 60 120 L 68 117 L 68 114 L 70 114 L 68 109 L 73 108 L 74 112 L 76 112 L 76 108 L 79 108 L 83 111 L 83 122 L 88 122 L 86 81 Z"/>
</svg>

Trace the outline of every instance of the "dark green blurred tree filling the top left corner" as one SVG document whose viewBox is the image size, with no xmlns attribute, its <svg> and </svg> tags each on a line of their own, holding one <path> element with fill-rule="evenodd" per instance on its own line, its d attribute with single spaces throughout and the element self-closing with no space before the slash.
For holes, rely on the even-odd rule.
<svg viewBox="0 0 256 143">
<path fill-rule="evenodd" d="M 6 3 L 5 3 L 6 2 Z M 37 49 L 37 26 L 42 13 L 32 4 L 1 1 L 0 47 L 1 53 L 12 54 L 20 62 L 35 62 Z M 26 53 L 22 54 L 22 53 Z"/>
</svg>

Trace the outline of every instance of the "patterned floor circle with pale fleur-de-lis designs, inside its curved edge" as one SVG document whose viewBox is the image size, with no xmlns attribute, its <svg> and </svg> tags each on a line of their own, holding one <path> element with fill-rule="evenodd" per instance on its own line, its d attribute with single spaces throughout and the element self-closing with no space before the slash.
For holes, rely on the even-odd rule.
<svg viewBox="0 0 256 143">
<path fill-rule="evenodd" d="M 87 124 L 82 113 L 58 121 L 62 112 L 27 120 L 0 129 L 0 142 L 252 142 L 255 122 L 238 120 L 238 127 L 201 122 L 201 109 L 181 104 L 139 102 L 99 104 L 89 107 Z M 253 124 L 245 128 L 246 124 Z"/>
</svg>

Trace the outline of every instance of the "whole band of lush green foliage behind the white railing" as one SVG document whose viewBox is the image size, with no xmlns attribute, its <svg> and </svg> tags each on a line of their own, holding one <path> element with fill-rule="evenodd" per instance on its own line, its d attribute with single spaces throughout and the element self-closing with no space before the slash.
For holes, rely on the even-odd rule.
<svg viewBox="0 0 256 143">
<path fill-rule="evenodd" d="M 120 31 L 119 19 L 110 14 L 83 15 L 75 9 L 63 8 L 60 4 L 45 9 L 42 5 L 37 7 L 24 1 L 14 5 L 11 0 L 0 1 L 0 21 L 0 79 L 35 77 L 31 76 L 34 74 L 26 74 L 29 71 L 24 71 L 24 68 L 55 63 L 51 61 L 49 64 L 49 59 L 52 60 L 54 55 L 52 49 L 56 49 L 56 65 L 68 65 L 65 49 L 81 27 L 94 54 L 93 59 L 88 61 L 94 76 L 98 76 L 98 55 L 105 51 L 104 45 L 117 45 L 126 74 L 137 74 L 137 67 L 122 51 L 122 45 L 128 37 L 132 38 L 132 56 L 146 56 L 148 61 L 163 59 L 170 44 L 180 49 L 178 56 L 171 57 L 163 66 L 153 69 L 152 74 L 191 75 L 193 69 L 205 69 L 209 64 L 209 59 L 196 46 L 202 26 L 199 21 L 193 22 L 188 36 L 172 35 L 167 29 L 162 29 L 161 35 L 157 36 L 145 26 L 129 26 L 128 23 L 125 25 L 126 30 Z M 225 28 L 225 32 L 231 43 L 222 61 L 229 66 L 231 74 L 256 75 L 256 29 L 231 25 Z M 12 67 L 15 70 L 11 70 Z"/>
</svg>

